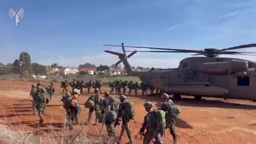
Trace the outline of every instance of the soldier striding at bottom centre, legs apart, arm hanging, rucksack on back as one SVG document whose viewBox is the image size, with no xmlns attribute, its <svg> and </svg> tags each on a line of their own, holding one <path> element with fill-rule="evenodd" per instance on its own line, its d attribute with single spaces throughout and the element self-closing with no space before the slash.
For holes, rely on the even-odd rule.
<svg viewBox="0 0 256 144">
<path fill-rule="evenodd" d="M 131 109 L 131 107 L 126 106 L 127 102 L 126 102 L 125 95 L 120 95 L 119 99 L 121 101 L 121 104 L 120 104 L 119 111 L 118 111 L 118 114 L 117 114 L 115 127 L 118 124 L 118 120 L 119 120 L 120 117 L 122 117 L 122 122 L 123 123 L 122 123 L 121 134 L 120 134 L 119 139 L 118 139 L 118 143 L 120 143 L 120 141 L 123 137 L 124 131 L 126 131 L 127 136 L 129 138 L 129 143 L 133 144 L 133 137 L 132 137 L 131 129 L 130 129 L 130 126 L 129 126 L 129 121 L 131 119 L 129 114 L 133 113 L 132 115 L 134 116 L 134 110 L 133 110 L 133 108 Z M 126 114 L 125 112 L 128 112 L 129 114 Z"/>
</svg>

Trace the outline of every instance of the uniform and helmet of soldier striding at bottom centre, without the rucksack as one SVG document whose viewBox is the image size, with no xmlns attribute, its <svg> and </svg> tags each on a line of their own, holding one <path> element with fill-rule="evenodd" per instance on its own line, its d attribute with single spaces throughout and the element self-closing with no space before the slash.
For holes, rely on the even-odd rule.
<svg viewBox="0 0 256 144">
<path fill-rule="evenodd" d="M 129 126 L 129 121 L 130 119 L 127 118 L 127 116 L 124 114 L 124 109 L 122 107 L 122 103 L 125 102 L 125 95 L 121 95 L 119 97 L 119 99 L 121 100 L 121 105 L 119 107 L 119 111 L 118 111 L 118 114 L 117 114 L 117 120 L 116 120 L 116 124 L 115 126 L 118 124 L 118 120 L 119 120 L 119 117 L 122 117 L 122 129 L 121 129 L 121 134 L 119 136 L 119 139 L 118 139 L 118 143 L 120 143 L 122 137 L 123 137 L 123 134 L 124 134 L 124 131 L 126 131 L 127 133 L 127 136 L 129 138 L 129 141 L 130 141 L 130 144 L 133 144 L 133 137 L 132 137 L 132 133 L 131 133 L 131 129 L 130 129 L 130 126 Z"/>
</svg>

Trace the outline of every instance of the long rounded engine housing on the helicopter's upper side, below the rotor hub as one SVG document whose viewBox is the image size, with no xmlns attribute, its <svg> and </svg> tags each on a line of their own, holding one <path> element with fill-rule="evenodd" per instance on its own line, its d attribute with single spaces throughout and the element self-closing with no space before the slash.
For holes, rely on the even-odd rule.
<svg viewBox="0 0 256 144">
<path fill-rule="evenodd" d="M 227 62 L 209 62 L 199 65 L 199 70 L 207 74 L 234 74 L 247 71 L 248 62 L 242 60 L 231 60 Z"/>
</svg>

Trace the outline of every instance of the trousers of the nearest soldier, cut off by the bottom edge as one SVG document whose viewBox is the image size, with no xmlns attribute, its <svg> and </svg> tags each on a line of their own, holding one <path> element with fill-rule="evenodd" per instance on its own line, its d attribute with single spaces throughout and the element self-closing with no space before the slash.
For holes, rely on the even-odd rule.
<svg viewBox="0 0 256 144">
<path fill-rule="evenodd" d="M 143 144 L 149 144 L 154 138 L 157 144 L 162 144 L 163 143 L 162 137 L 163 137 L 163 132 L 149 128 L 147 129 L 147 132 L 143 139 Z"/>
</svg>

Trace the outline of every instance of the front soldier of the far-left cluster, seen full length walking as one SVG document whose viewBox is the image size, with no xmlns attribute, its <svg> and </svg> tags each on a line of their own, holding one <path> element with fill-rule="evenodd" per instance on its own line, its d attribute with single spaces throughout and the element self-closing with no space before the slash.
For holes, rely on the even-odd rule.
<svg viewBox="0 0 256 144">
<path fill-rule="evenodd" d="M 39 124 L 43 123 L 43 113 L 46 105 L 46 89 L 43 86 L 38 85 L 37 86 L 37 95 L 35 97 L 35 106 L 36 110 L 38 111 L 38 116 L 40 118 Z"/>
</svg>

